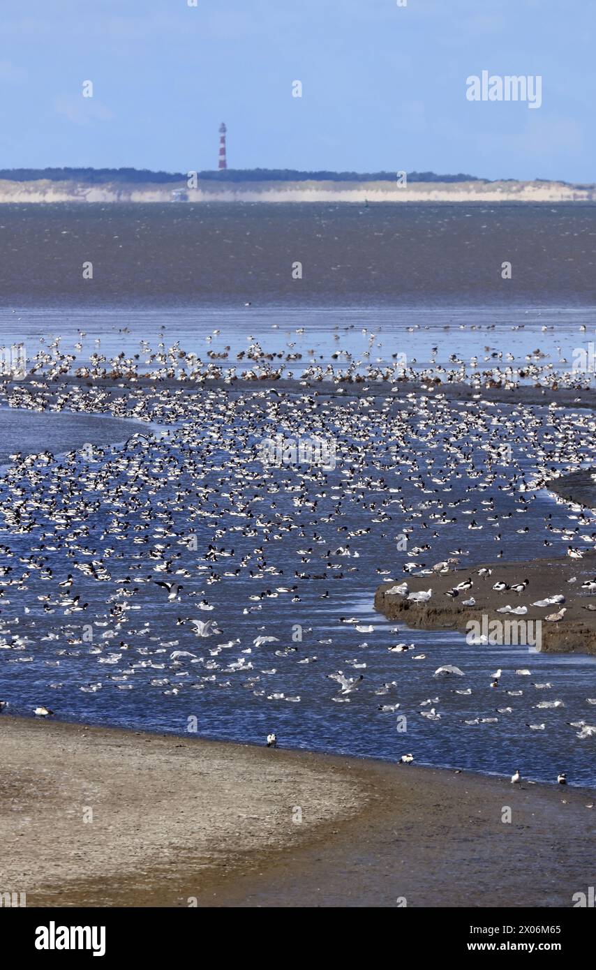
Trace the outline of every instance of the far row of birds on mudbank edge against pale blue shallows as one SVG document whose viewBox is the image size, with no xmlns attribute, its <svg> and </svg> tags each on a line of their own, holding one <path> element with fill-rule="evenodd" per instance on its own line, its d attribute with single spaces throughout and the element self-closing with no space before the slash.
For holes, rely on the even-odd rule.
<svg viewBox="0 0 596 970">
<path fill-rule="evenodd" d="M 250 307 L 250 304 L 246 304 Z M 14 311 L 15 312 L 15 311 Z M 18 318 L 20 319 L 20 318 Z M 512 331 L 523 331 L 525 324 L 514 324 Z M 444 336 L 451 333 L 466 336 L 480 330 L 477 325 L 445 324 Z M 483 328 L 488 335 L 495 329 L 494 324 Z M 118 352 L 102 348 L 102 339 L 92 340 L 93 348 L 88 348 L 89 339 L 80 330 L 72 347 L 63 350 L 65 342 L 60 337 L 40 338 L 40 347 L 27 361 L 33 375 L 49 379 L 74 375 L 78 378 L 137 380 L 141 375 L 153 380 L 179 380 L 193 383 L 221 379 L 232 382 L 241 380 L 280 380 L 300 379 L 309 382 L 335 381 L 338 384 L 366 383 L 367 381 L 414 381 L 431 384 L 465 383 L 476 386 L 515 388 L 520 384 L 533 383 L 545 388 L 586 389 L 594 387 L 594 374 L 589 367 L 578 366 L 575 351 L 566 350 L 561 343 L 554 342 L 548 350 L 540 347 L 516 356 L 511 349 L 500 349 L 486 344 L 481 352 L 466 354 L 454 350 L 443 357 L 445 344 L 441 340 L 430 346 L 428 360 L 420 361 L 405 350 L 386 350 L 385 335 L 380 331 L 354 324 L 340 326 L 331 330 L 332 349 L 321 353 L 316 345 L 305 346 L 306 329 L 297 327 L 293 332 L 281 331 L 278 324 L 271 330 L 277 340 L 275 347 L 264 346 L 265 341 L 253 334 L 247 336 L 247 346 L 232 350 L 231 344 L 221 344 L 215 349 L 214 340 L 221 342 L 221 332 L 215 328 L 204 338 L 205 350 L 187 350 L 181 346 L 180 339 L 167 346 L 165 334 L 161 331 L 158 342 L 152 347 L 148 339 L 141 339 L 138 349 L 130 347 Z M 423 337 L 429 331 L 428 324 L 414 323 L 404 328 L 402 338 L 408 347 L 413 339 Z M 541 333 L 552 339 L 554 325 L 544 324 Z M 276 334 L 276 332 L 278 332 Z M 120 341 L 129 334 L 128 327 L 120 327 Z M 587 338 L 585 324 L 579 326 L 580 339 Z M 586 335 L 585 337 L 583 335 Z M 360 338 L 360 345 L 357 346 Z M 224 339 L 224 338 L 221 338 Z M 228 339 L 233 339 L 230 337 Z M 110 343 L 109 340 L 105 341 Z M 236 342 L 234 340 L 234 342 Z M 395 338 L 391 338 L 394 344 Z M 427 342 L 427 341 L 424 341 Z M 345 344 L 342 346 L 342 344 Z M 430 340 L 433 343 L 433 340 Z M 475 341 L 476 343 L 476 341 Z M 351 349 L 348 349 L 348 346 Z M 593 344 L 592 344 L 593 346 Z M 0 348 L 0 377 L 10 376 L 10 367 L 5 364 L 6 348 Z M 585 349 L 588 360 L 589 344 Z M 593 352 L 592 352 L 593 354 Z M 10 355 L 8 355 L 10 356 Z"/>
</svg>

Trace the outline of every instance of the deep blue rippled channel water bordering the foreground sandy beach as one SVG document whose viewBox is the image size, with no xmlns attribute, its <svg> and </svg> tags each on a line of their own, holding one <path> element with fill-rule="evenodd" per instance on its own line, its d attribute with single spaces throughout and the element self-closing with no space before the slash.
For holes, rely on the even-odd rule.
<svg viewBox="0 0 596 970">
<path fill-rule="evenodd" d="M 467 409 L 463 404 L 454 407 L 460 417 Z M 505 440 L 505 423 L 513 420 L 514 409 L 499 405 L 492 410 L 491 420 L 494 422 L 495 415 L 499 418 L 496 434 Z M 535 408 L 533 414 L 542 436 L 548 428 L 546 408 Z M 526 420 L 527 416 L 526 413 Z M 42 438 L 55 417 L 36 416 Z M 87 422 L 84 416 L 58 417 L 70 420 L 73 434 L 77 435 L 80 434 L 78 422 Z M 362 420 L 368 422 L 362 444 L 369 452 L 370 461 L 378 463 L 384 442 L 377 440 L 374 408 Z M 413 420 L 424 422 L 424 417 Z M 565 427 L 566 421 L 569 428 L 575 418 L 573 415 L 564 418 L 561 414 L 557 427 Z M 298 479 L 296 471 L 284 468 L 268 469 L 263 478 L 259 463 L 252 461 L 245 450 L 247 441 L 256 436 L 249 432 L 246 437 L 247 427 L 242 418 L 236 429 L 231 427 L 222 433 L 215 431 L 217 425 L 212 411 L 204 421 L 195 421 L 194 427 L 192 452 L 187 450 L 187 441 L 182 443 L 180 430 L 174 431 L 172 438 L 166 439 L 167 443 L 156 440 L 149 447 L 133 447 L 134 468 L 116 475 L 124 488 L 118 501 L 108 496 L 106 489 L 98 493 L 90 488 L 88 501 L 100 501 L 100 506 L 80 513 L 70 523 L 73 529 L 80 528 L 82 523 L 88 527 L 88 535 L 83 540 L 67 544 L 73 550 L 71 557 L 65 556 L 64 549 L 46 549 L 56 579 L 64 578 L 69 572 L 76 573 L 72 592 L 77 591 L 82 602 L 89 604 L 83 613 L 70 614 L 68 606 L 56 599 L 55 581 L 42 581 L 39 571 L 31 571 L 25 589 L 5 589 L 2 619 L 17 619 L 18 623 L 10 632 L 7 628 L 2 643 L 5 649 L 0 650 L 0 696 L 10 701 L 14 713 L 30 714 L 33 706 L 45 703 L 67 720 L 181 733 L 189 726 L 195 727 L 189 719 L 196 718 L 198 733 L 215 738 L 262 743 L 264 736 L 274 729 L 280 743 L 290 747 L 389 760 L 412 751 L 420 762 L 498 773 L 506 773 L 519 763 L 530 777 L 546 780 L 552 780 L 565 768 L 574 783 L 596 784 L 594 739 L 579 740 L 576 731 L 568 725 L 576 720 L 596 722 L 596 707 L 587 700 L 596 697 L 596 659 L 542 655 L 527 647 L 471 646 L 460 633 L 398 627 L 375 613 L 372 607 L 375 589 L 381 581 L 379 570 L 386 570 L 399 580 L 403 578 L 401 564 L 405 561 L 428 566 L 447 558 L 458 548 L 468 554 L 465 560 L 470 563 L 491 558 L 499 547 L 506 548 L 513 561 L 543 555 L 545 518 L 551 514 L 555 527 L 569 526 L 573 523 L 570 515 L 574 513 L 568 505 L 556 503 L 546 492 L 528 493 L 528 510 L 523 515 L 502 519 L 497 527 L 488 516 L 507 515 L 515 507 L 511 493 L 499 488 L 509 478 L 511 469 L 506 466 L 497 469 L 494 486 L 483 492 L 475 491 L 479 478 L 474 477 L 476 472 L 469 476 L 471 465 L 447 472 L 447 478 L 445 469 L 441 470 L 438 473 L 444 477 L 443 484 L 429 481 L 429 494 L 424 495 L 406 472 L 398 480 L 393 478 L 395 472 L 385 470 L 383 486 L 380 478 L 384 459 L 379 467 L 370 467 L 371 480 L 367 482 L 359 476 L 356 482 L 350 482 L 346 477 L 349 452 L 340 449 L 336 469 L 330 470 L 324 479 Z M 487 429 L 490 427 L 494 425 Z M 85 436 L 88 430 L 85 427 Z M 215 446 L 209 443 L 214 433 Z M 424 431 L 422 426 L 419 433 L 424 436 L 428 430 Z M 485 458 L 481 450 L 483 439 L 485 436 L 480 436 L 474 451 L 474 465 L 480 471 Z M 414 447 L 419 451 L 420 442 L 413 442 L 412 448 L 403 453 L 411 460 Z M 588 452 L 589 449 L 586 455 Z M 90 471 L 97 473 L 110 467 L 121 455 L 120 448 L 115 448 L 114 453 L 108 450 L 103 458 L 96 456 L 91 469 L 79 458 L 75 477 L 87 487 Z M 165 467 L 155 463 L 168 455 L 172 459 L 171 470 L 164 476 Z M 444 462 L 436 454 L 435 460 L 437 469 L 442 469 Z M 191 478 L 184 470 L 188 462 L 194 469 Z M 534 468 L 522 440 L 515 445 L 513 466 L 528 477 Z M 40 479 L 36 486 L 39 494 L 46 494 L 51 487 L 51 469 L 52 466 L 39 467 Z M 306 469 L 304 474 L 313 475 L 313 469 Z M 141 488 L 140 494 L 150 501 L 154 511 L 164 508 L 164 501 L 171 502 L 174 523 L 165 536 L 157 532 L 158 523 L 165 521 L 158 518 L 153 519 L 149 532 L 143 532 L 143 520 L 125 499 L 126 483 L 131 480 Z M 299 481 L 306 485 L 306 494 L 310 501 L 316 502 L 315 506 L 294 504 Z M 209 498 L 205 499 L 197 491 L 196 503 L 189 496 L 177 500 L 179 487 L 186 487 L 190 482 L 197 490 L 208 489 Z M 387 485 L 396 489 L 399 486 L 400 501 L 403 497 L 406 509 L 426 508 L 422 521 L 431 525 L 429 530 L 423 530 L 411 513 L 402 511 L 397 492 L 387 493 Z M 474 490 L 467 491 L 471 486 Z M 26 494 L 30 493 L 26 485 L 23 488 Z M 156 490 L 156 494 L 151 495 L 149 490 Z M 249 527 L 253 534 L 243 534 L 246 519 L 227 514 L 235 507 L 230 504 L 230 493 L 237 496 L 242 493 L 247 498 L 253 515 Z M 334 509 L 342 496 L 342 515 L 334 518 Z M 383 506 L 383 500 L 389 503 Z M 463 504 L 454 510 L 457 521 L 438 524 L 437 536 L 431 539 L 432 522 L 427 518 L 431 510 L 442 507 L 444 502 L 460 500 Z M 480 500 L 487 504 L 482 506 Z M 488 506 L 490 500 L 494 502 L 492 508 Z M 3 508 L 7 507 L 5 486 L 0 486 L 0 501 Z M 446 508 L 448 511 L 447 505 Z M 474 518 L 482 524 L 481 531 L 468 530 L 471 519 L 461 514 L 466 508 L 476 510 Z M 225 509 L 227 512 L 222 514 Z M 297 528 L 277 531 L 275 527 L 266 527 L 274 515 L 282 527 L 292 523 Z M 330 521 L 326 521 L 329 517 Z M 41 511 L 34 512 L 34 518 L 37 525 L 30 533 L 0 531 L 0 542 L 10 545 L 24 562 L 31 548 L 40 549 L 42 532 L 53 529 L 52 522 Z M 521 522 L 528 529 L 523 535 L 517 533 Z M 123 523 L 127 524 L 124 533 L 120 528 Z M 413 548 L 414 541 L 428 538 L 432 552 L 408 560 L 404 552 L 398 551 L 396 538 L 406 524 L 414 527 L 409 548 Z M 139 533 L 134 532 L 137 525 Z M 348 537 L 340 531 L 339 527 L 343 526 L 348 526 L 352 533 L 369 532 Z M 497 528 L 501 533 L 498 545 L 493 541 Z M 58 516 L 58 531 L 52 532 L 51 541 L 46 538 L 46 547 L 51 547 L 55 536 L 63 535 L 66 530 L 66 525 L 59 526 Z M 197 536 L 196 550 L 187 548 L 190 532 Z M 134 545 L 135 535 L 139 538 L 149 535 L 149 545 Z M 205 553 L 214 537 L 217 548 L 234 552 L 209 564 Z M 557 542 L 555 554 L 565 548 L 559 539 Z M 174 575 L 167 576 L 169 580 L 177 578 L 184 586 L 180 600 L 173 603 L 165 601 L 163 591 L 150 578 L 160 578 L 154 570 L 162 560 L 161 554 L 149 559 L 148 549 L 159 546 L 165 546 L 166 558 L 173 554 L 180 557 L 171 566 Z M 350 555 L 337 551 L 347 546 Z M 73 569 L 73 563 L 82 558 L 82 547 L 89 550 L 83 557 L 86 562 L 104 559 L 110 581 L 97 582 Z M 266 566 L 256 566 L 257 548 L 265 550 Z M 111 551 L 106 554 L 105 550 Z M 245 557 L 249 557 L 247 566 L 240 569 L 239 575 L 233 575 Z M 15 573 L 20 575 L 24 566 L 17 565 L 14 558 L 11 562 Z M 273 565 L 281 572 L 264 571 Z M 177 569 L 186 570 L 187 574 L 177 575 Z M 578 575 L 584 571 L 579 564 Z M 300 579 L 296 572 L 310 578 Z M 213 575 L 220 578 L 210 583 L 209 577 Z M 319 575 L 321 578 L 315 578 Z M 120 586 L 120 591 L 134 588 L 145 577 L 149 577 L 149 582 L 139 582 L 138 592 L 126 600 L 130 610 L 124 625 L 118 628 L 107 613 L 107 604 L 115 602 L 116 579 L 126 576 L 132 576 L 133 582 Z M 258 598 L 267 590 L 276 592 L 293 586 L 300 598 L 297 602 L 291 601 L 293 594 L 283 592 L 275 598 Z M 532 598 L 552 592 L 534 590 Z M 326 593 L 328 598 L 321 598 Z M 49 594 L 52 611 L 45 613 L 39 597 Z M 62 597 L 68 595 L 65 591 Z M 202 599 L 207 599 L 213 610 L 198 609 Z M 179 619 L 189 617 L 213 619 L 220 633 L 197 637 L 188 624 L 178 623 Z M 342 623 L 342 617 L 357 619 L 358 626 L 372 625 L 374 629 L 356 630 L 356 624 Z M 259 635 L 275 636 L 277 640 L 256 647 L 253 640 Z M 19 643 L 17 636 L 24 637 L 23 641 Z M 8 649 L 11 642 L 13 649 Z M 397 642 L 413 643 L 414 650 L 389 653 L 387 647 Z M 220 644 L 227 646 L 217 651 Z M 176 650 L 188 651 L 191 656 L 172 657 Z M 311 663 L 300 663 L 307 658 Z M 239 661 L 243 668 L 234 669 Z M 355 667 L 353 662 L 366 666 Z M 434 671 L 445 663 L 457 664 L 464 676 L 456 680 L 435 678 Z M 499 666 L 504 674 L 501 687 L 495 691 L 489 686 L 490 675 Z M 531 670 L 531 676 L 515 673 L 516 669 L 525 667 Z M 349 695 L 348 702 L 332 699 L 338 695 L 338 685 L 327 679 L 327 675 L 337 670 L 343 670 L 348 676 L 364 674 L 360 689 Z M 549 682 L 551 688 L 539 690 L 533 686 L 544 682 Z M 387 683 L 391 684 L 388 693 L 378 694 Z M 98 684 L 101 686 L 95 693 L 87 693 L 88 685 Z M 469 695 L 454 693 L 468 688 L 472 691 Z M 507 695 L 508 690 L 522 690 L 523 694 Z M 290 699 L 296 697 L 300 699 Z M 564 706 L 537 709 L 535 705 L 546 698 L 561 700 Z M 420 706 L 428 699 L 432 705 Z M 385 703 L 399 703 L 400 707 L 396 712 L 384 713 L 379 705 Z M 495 713 L 497 706 L 505 705 L 512 707 L 512 713 Z M 441 713 L 441 720 L 424 719 L 420 712 L 430 706 Z M 398 730 L 399 715 L 406 716 L 405 733 L 401 728 Z M 496 717 L 498 721 L 476 726 L 464 724 L 465 720 L 477 717 Z M 531 731 L 528 723 L 545 723 L 546 728 Z"/>
</svg>

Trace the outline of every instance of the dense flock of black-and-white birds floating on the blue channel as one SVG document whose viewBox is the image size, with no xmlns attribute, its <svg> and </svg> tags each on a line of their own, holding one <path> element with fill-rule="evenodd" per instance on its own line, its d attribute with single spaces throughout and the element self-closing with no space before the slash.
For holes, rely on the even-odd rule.
<svg viewBox="0 0 596 970">
<path fill-rule="evenodd" d="M 87 697 L 85 712 L 106 688 L 136 689 L 149 706 L 153 691 L 171 702 L 188 702 L 190 692 L 246 692 L 259 702 L 300 704 L 303 695 L 308 703 L 324 696 L 331 682 L 329 699 L 336 704 L 349 704 L 370 687 L 377 712 L 394 714 L 401 679 L 415 676 L 422 686 L 428 658 L 414 644 L 391 644 L 382 650 L 384 668 L 389 655 L 405 654 L 418 662 L 418 672 L 402 669 L 397 680 L 388 675 L 371 683 L 368 658 L 381 663 L 379 650 L 361 636 L 376 626 L 338 616 L 338 602 L 367 590 L 372 598 L 379 575 L 432 577 L 479 559 L 515 557 L 528 542 L 535 555 L 542 547 L 577 558 L 579 569 L 584 554 L 596 550 L 596 512 L 546 501 L 543 492 L 552 477 L 594 464 L 596 425 L 587 411 L 491 404 L 481 395 L 460 403 L 439 386 L 401 387 L 397 394 L 395 385 L 380 396 L 368 393 L 365 382 L 347 396 L 340 379 L 332 392 L 293 394 L 249 384 L 64 386 L 50 377 L 73 362 L 57 363 L 56 348 L 54 342 L 32 381 L 6 390 L 8 404 L 112 413 L 161 430 L 108 448 L 11 456 L 0 482 L 0 667 L 4 658 L 33 663 L 38 671 L 41 663 L 33 683 L 45 696 L 32 708 L 36 716 L 73 708 L 71 664 L 96 669 L 77 684 Z M 162 376 L 171 376 L 180 348 L 157 353 Z M 188 355 L 183 359 L 187 366 Z M 98 355 L 87 372 L 104 363 Z M 120 360 L 122 374 L 130 376 L 129 363 Z M 277 434 L 333 440 L 336 468 L 263 466 L 259 444 Z M 448 595 L 469 601 L 472 573 L 473 566 Z M 500 589 L 497 575 L 492 578 Z M 579 581 L 587 603 L 596 579 L 580 575 Z M 432 588 L 414 594 L 402 585 L 408 598 L 432 596 Z M 507 589 L 519 599 L 526 587 L 520 577 Z M 564 614 L 561 607 L 546 620 L 564 622 Z M 342 661 L 353 642 L 350 631 L 359 642 L 355 656 Z M 342 665 L 329 669 L 332 658 Z M 327 668 L 322 675 L 321 667 Z M 501 674 L 491 675 L 493 687 Z M 429 684 L 458 676 L 464 672 L 453 664 L 427 674 Z M 287 691 L 290 680 L 303 684 L 300 693 Z M 17 679 L 15 685 L 18 695 Z M 50 691 L 65 692 L 68 704 L 50 706 Z M 448 716 L 449 696 L 472 693 L 466 688 L 421 700 L 420 717 L 439 722 Z M 507 718 L 510 698 L 523 692 L 506 693 L 499 718 L 480 711 L 462 724 Z M 18 707 L 13 699 L 0 706 L 9 703 Z M 596 705 L 596 698 L 585 703 Z M 563 705 L 535 706 L 556 711 Z M 596 736 L 585 718 L 573 727 L 580 739 Z M 266 743 L 276 747 L 275 731 Z M 408 764 L 414 756 L 396 754 L 396 760 Z M 560 774 L 558 781 L 565 780 Z"/>
</svg>

